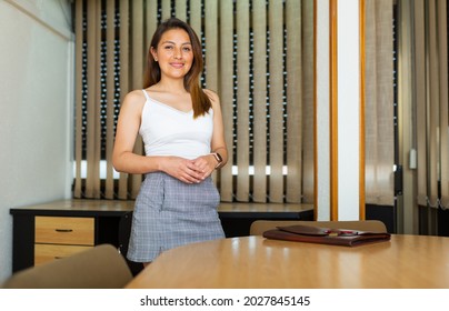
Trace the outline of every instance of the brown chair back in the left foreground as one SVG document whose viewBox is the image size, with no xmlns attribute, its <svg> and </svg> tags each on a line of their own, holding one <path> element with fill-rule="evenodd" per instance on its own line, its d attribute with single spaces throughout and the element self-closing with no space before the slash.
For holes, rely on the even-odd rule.
<svg viewBox="0 0 449 311">
<path fill-rule="evenodd" d="M 101 244 L 12 274 L 4 289 L 121 289 L 132 274 L 111 244 Z"/>
</svg>

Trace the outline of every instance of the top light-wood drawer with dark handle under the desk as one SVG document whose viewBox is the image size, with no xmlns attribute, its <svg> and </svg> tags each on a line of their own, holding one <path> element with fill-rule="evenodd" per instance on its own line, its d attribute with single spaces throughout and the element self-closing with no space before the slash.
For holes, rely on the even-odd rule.
<svg viewBox="0 0 449 311">
<path fill-rule="evenodd" d="M 93 245 L 94 219 L 36 217 L 36 243 Z"/>
</svg>

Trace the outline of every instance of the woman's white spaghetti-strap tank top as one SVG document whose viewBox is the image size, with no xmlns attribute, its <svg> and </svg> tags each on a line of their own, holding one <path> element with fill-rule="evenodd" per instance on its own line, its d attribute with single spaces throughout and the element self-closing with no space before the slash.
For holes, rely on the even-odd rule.
<svg viewBox="0 0 449 311">
<path fill-rule="evenodd" d="M 193 110 L 180 111 L 166 103 L 147 99 L 142 109 L 139 133 L 146 156 L 177 156 L 196 159 L 210 152 L 213 110 L 193 119 Z"/>
</svg>

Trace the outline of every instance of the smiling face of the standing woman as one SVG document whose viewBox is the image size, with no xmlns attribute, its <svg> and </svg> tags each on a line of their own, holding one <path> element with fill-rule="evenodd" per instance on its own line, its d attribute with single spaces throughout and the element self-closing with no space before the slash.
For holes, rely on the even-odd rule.
<svg viewBox="0 0 449 311">
<path fill-rule="evenodd" d="M 183 29 L 166 31 L 157 49 L 151 48 L 151 53 L 159 63 L 161 78 L 183 78 L 193 63 L 192 44 Z"/>
</svg>

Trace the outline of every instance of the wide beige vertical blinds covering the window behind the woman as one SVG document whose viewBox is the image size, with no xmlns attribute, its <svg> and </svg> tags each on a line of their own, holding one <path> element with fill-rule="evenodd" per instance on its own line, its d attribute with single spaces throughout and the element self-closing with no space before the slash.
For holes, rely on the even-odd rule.
<svg viewBox="0 0 449 311">
<path fill-rule="evenodd" d="M 117 173 L 120 103 L 142 87 L 157 26 L 197 31 L 202 87 L 221 99 L 229 161 L 222 201 L 313 199 L 313 0 L 76 0 L 74 198 L 134 199 L 140 174 Z M 142 142 L 136 152 L 142 153 Z"/>
</svg>

